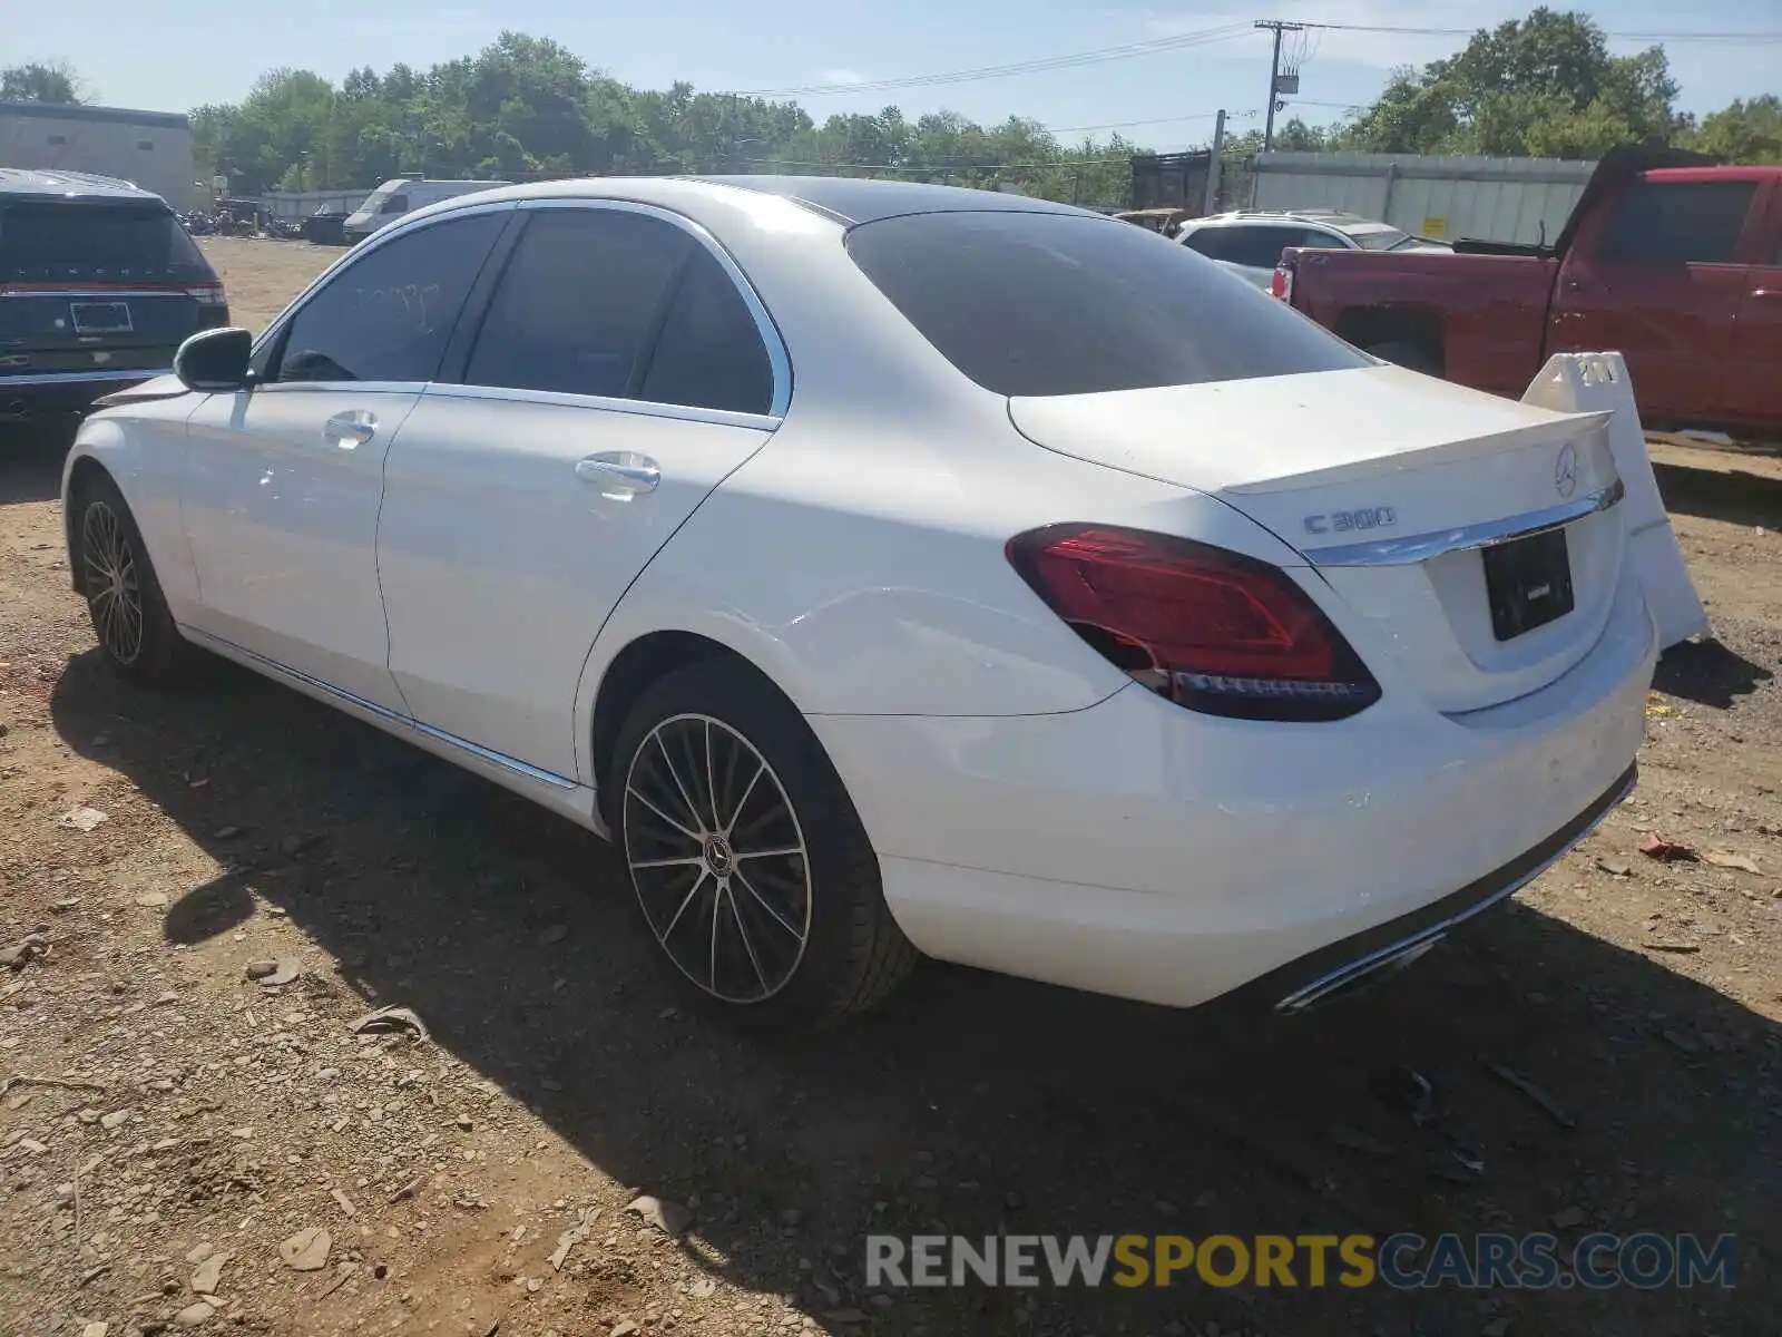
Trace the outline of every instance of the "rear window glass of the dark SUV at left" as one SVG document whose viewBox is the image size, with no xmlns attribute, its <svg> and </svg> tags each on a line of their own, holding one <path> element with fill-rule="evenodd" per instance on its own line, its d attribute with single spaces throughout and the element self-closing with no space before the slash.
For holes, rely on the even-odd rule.
<svg viewBox="0 0 1782 1337">
<path fill-rule="evenodd" d="M 160 205 L 0 205 L 0 282 L 205 283 L 198 244 Z"/>
</svg>

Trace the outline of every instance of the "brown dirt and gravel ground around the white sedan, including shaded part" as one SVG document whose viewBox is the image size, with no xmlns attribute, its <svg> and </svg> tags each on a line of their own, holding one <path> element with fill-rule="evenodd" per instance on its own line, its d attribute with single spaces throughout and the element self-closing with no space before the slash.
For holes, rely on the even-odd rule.
<svg viewBox="0 0 1782 1337">
<path fill-rule="evenodd" d="M 205 250 L 253 326 L 337 255 Z M 61 447 L 11 447 L 0 947 L 41 950 L 0 968 L 0 1082 L 52 1084 L 0 1091 L 0 1332 L 1771 1337 L 1782 465 L 1654 456 L 1718 640 L 1666 656 L 1641 788 L 1509 913 L 1297 1021 L 925 966 L 764 1045 L 675 1009 L 592 836 L 246 672 L 121 686 L 68 590 Z M 429 1038 L 349 1029 L 387 1004 Z M 1394 1066 L 1433 1127 L 1377 1095 Z M 1598 1226 L 1736 1234 L 1737 1287 L 864 1285 L 868 1232 Z"/>
</svg>

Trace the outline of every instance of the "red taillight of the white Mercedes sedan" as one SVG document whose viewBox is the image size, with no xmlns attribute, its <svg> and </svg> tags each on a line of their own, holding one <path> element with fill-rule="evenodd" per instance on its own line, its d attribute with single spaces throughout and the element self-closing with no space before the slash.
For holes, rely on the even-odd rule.
<svg viewBox="0 0 1782 1337">
<path fill-rule="evenodd" d="M 1098 524 L 1030 529 L 1007 553 L 1083 640 L 1189 710 L 1340 720 L 1379 701 L 1342 633 L 1265 562 Z"/>
</svg>

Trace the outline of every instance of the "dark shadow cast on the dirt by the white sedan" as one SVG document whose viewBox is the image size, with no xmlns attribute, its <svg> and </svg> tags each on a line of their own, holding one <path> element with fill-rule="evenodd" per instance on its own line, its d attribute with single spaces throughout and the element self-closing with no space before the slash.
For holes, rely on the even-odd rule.
<svg viewBox="0 0 1782 1337">
<path fill-rule="evenodd" d="M 169 907 L 171 941 L 283 909 L 339 961 L 339 982 L 413 1007 L 438 1045 L 604 1173 L 697 1194 L 695 1234 L 752 1291 L 934 1337 L 1157 1333 L 1183 1319 L 1276 1337 L 1472 1337 L 1493 1316 L 1543 1333 L 1773 1332 L 1782 1294 L 1757 1250 L 1782 1239 L 1782 1036 L 1525 907 L 1296 1021 L 925 966 L 882 1016 L 766 1043 L 670 1013 L 683 1000 L 601 841 L 374 729 L 230 667 L 198 692 L 137 693 L 93 652 L 68 663 L 52 710 L 69 747 L 239 870 Z M 1593 886 L 1607 898 L 1616 884 Z M 1486 1061 L 1538 1082 L 1577 1127 Z M 1477 1144 L 1483 1175 L 1372 1089 L 1370 1073 L 1394 1064 L 1436 1084 L 1442 1128 Z M 1178 1278 L 1167 1291 L 909 1291 L 880 1308 L 862 1285 L 870 1232 L 1433 1237 L 1547 1230 L 1574 1209 L 1568 1241 L 1593 1225 L 1736 1232 L 1739 1289 Z"/>
</svg>

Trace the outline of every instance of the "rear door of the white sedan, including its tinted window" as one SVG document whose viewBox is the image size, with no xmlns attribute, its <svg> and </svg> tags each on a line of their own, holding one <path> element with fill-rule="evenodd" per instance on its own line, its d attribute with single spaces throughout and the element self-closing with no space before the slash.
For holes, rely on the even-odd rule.
<svg viewBox="0 0 1782 1337">
<path fill-rule="evenodd" d="M 754 292 L 684 219 L 583 201 L 522 216 L 462 371 L 390 451 L 378 569 L 413 717 L 568 783 L 601 624 L 766 442 L 789 378 Z"/>
</svg>

